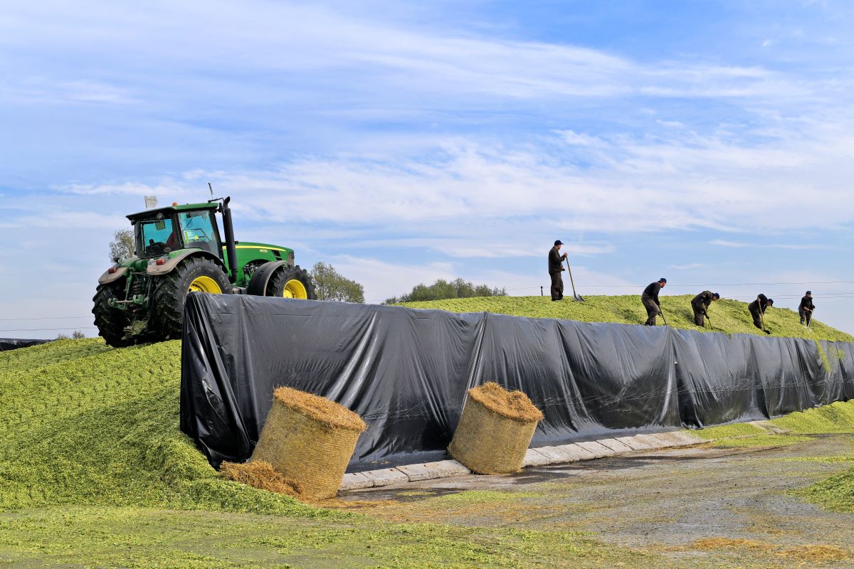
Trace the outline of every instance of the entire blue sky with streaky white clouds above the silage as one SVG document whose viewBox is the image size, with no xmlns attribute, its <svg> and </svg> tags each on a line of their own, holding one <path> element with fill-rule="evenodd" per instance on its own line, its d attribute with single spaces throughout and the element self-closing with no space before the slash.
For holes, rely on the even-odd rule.
<svg viewBox="0 0 854 569">
<path fill-rule="evenodd" d="M 238 239 L 371 301 L 538 294 L 559 238 L 582 293 L 809 287 L 854 333 L 851 29 L 841 2 L 7 7 L 0 336 L 94 334 L 124 214 L 208 182 Z M 810 284 L 742 286 L 778 282 Z"/>
</svg>

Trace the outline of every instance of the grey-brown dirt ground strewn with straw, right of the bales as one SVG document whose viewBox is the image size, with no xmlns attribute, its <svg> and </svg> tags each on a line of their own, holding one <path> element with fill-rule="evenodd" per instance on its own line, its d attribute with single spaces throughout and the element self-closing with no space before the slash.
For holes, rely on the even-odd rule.
<svg viewBox="0 0 854 569">
<path fill-rule="evenodd" d="M 829 459 L 829 460 L 828 460 Z M 582 531 L 664 566 L 854 567 L 854 514 L 787 493 L 854 465 L 854 437 L 711 445 L 341 496 L 395 522 Z"/>
</svg>

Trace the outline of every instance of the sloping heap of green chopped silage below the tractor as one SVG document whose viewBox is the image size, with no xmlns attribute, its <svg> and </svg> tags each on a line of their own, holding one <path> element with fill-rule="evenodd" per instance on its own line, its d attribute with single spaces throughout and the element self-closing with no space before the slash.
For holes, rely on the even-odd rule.
<svg viewBox="0 0 854 569">
<path fill-rule="evenodd" d="M 180 342 L 0 354 L 0 510 L 108 504 L 342 515 L 217 476 L 178 429 Z"/>
</svg>

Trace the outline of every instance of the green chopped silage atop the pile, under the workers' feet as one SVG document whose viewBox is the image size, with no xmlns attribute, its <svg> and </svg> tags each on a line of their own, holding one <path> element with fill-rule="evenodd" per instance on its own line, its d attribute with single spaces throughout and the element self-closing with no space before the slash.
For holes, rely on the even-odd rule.
<svg viewBox="0 0 854 569">
<path fill-rule="evenodd" d="M 700 328 L 693 323 L 691 299 L 693 295 L 662 296 L 661 306 L 667 323 L 673 328 L 722 332 L 725 334 L 765 334 L 753 326 L 747 305 L 738 300 L 721 299 L 709 308 L 711 328 Z M 451 312 L 494 312 L 510 316 L 533 316 L 538 318 L 563 318 L 579 322 L 618 322 L 642 324 L 646 322 L 646 310 L 640 304 L 640 296 L 588 296 L 584 302 L 564 299 L 552 302 L 542 296 L 491 296 L 473 299 L 429 300 L 409 302 L 410 308 L 430 308 Z M 661 324 L 661 318 L 658 318 Z M 797 312 L 784 308 L 769 308 L 765 324 L 772 336 L 804 338 L 807 340 L 854 341 L 854 337 L 835 328 L 812 321 L 811 332 L 800 324 Z"/>
</svg>

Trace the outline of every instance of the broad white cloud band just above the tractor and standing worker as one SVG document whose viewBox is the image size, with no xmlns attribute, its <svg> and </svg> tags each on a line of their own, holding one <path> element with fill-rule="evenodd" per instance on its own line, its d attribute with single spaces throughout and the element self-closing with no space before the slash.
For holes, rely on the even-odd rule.
<svg viewBox="0 0 854 569">
<path fill-rule="evenodd" d="M 550 138 L 537 148 L 453 138 L 426 157 L 306 157 L 266 171 L 193 171 L 155 184 L 74 185 L 68 191 L 168 191 L 198 199 L 200 180 L 211 180 L 218 195 L 235 196 L 234 207 L 243 218 L 371 226 L 383 239 L 433 241 L 458 257 L 498 247 L 535 254 L 528 252 L 553 241 L 547 235 L 564 239 L 578 232 L 753 232 L 825 229 L 854 221 L 849 191 L 854 135 L 824 124 L 781 129 L 775 141 L 761 147 L 693 133 L 667 141 L 612 136 L 607 148 L 585 148 L 589 164 L 583 168 L 574 164 L 575 147 Z M 822 215 L 804 215 L 806 196 L 810 203 L 834 206 L 822 208 Z M 749 242 L 712 244 L 745 247 Z M 607 244 L 576 245 L 581 247 L 576 253 L 608 251 Z"/>
</svg>

